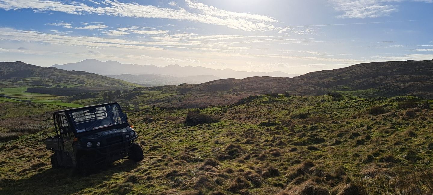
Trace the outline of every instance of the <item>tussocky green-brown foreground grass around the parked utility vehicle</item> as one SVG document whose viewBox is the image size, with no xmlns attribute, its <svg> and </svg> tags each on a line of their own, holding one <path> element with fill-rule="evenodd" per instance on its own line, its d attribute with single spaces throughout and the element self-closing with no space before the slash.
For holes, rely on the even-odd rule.
<svg viewBox="0 0 433 195">
<path fill-rule="evenodd" d="M 0 194 L 429 195 L 431 103 L 250 96 L 190 112 L 213 122 L 192 126 L 194 109 L 148 107 L 128 115 L 145 159 L 88 177 L 50 169 L 48 128 L 0 143 Z"/>
</svg>

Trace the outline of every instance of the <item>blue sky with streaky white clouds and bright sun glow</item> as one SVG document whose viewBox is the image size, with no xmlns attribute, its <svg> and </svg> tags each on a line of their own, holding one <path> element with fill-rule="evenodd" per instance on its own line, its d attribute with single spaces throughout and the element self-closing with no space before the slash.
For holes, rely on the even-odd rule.
<svg viewBox="0 0 433 195">
<path fill-rule="evenodd" d="M 433 0 L 0 0 L 0 61 L 305 74 L 433 59 Z"/>
</svg>

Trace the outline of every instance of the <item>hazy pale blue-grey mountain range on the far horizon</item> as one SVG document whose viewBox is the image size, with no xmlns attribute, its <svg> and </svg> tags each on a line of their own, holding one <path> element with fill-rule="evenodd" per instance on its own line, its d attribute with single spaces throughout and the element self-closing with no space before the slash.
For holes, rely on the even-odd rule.
<svg viewBox="0 0 433 195">
<path fill-rule="evenodd" d="M 52 67 L 64 70 L 81 70 L 90 73 L 96 73 L 101 75 L 121 75 L 121 74 L 157 74 L 157 75 L 170 75 L 172 77 L 191 77 L 191 78 L 181 78 L 180 80 L 189 80 L 189 82 L 199 83 L 202 81 L 211 81 L 218 78 L 236 78 L 243 79 L 246 77 L 296 77 L 298 74 L 287 74 L 280 71 L 273 72 L 247 72 L 247 71 L 236 71 L 229 68 L 224 70 L 206 68 L 202 66 L 192 67 L 185 66 L 181 67 L 177 64 L 171 64 L 165 67 L 157 67 L 155 65 L 139 65 L 139 64 L 121 64 L 117 61 L 98 61 L 95 59 L 87 59 L 77 63 L 70 64 L 55 64 Z M 210 77 L 210 76 L 214 77 Z M 148 75 L 149 76 L 149 75 Z M 196 78 L 196 76 L 199 76 Z M 218 77 L 218 78 L 217 78 Z M 155 79 L 161 79 L 162 77 L 156 77 Z M 134 78 L 133 80 L 136 80 Z M 153 80 L 152 80 L 153 82 Z M 140 82 L 141 84 L 144 84 Z M 179 83 L 180 84 L 180 83 Z"/>
</svg>

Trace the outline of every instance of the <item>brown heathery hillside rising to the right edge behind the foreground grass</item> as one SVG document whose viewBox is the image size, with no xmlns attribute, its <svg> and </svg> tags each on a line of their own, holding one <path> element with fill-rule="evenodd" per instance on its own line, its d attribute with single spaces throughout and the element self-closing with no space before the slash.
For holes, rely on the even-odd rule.
<svg viewBox="0 0 433 195">
<path fill-rule="evenodd" d="M 356 64 L 294 78 L 248 77 L 221 79 L 196 85 L 142 87 L 129 90 L 119 101 L 136 105 L 186 108 L 229 105 L 246 96 L 287 92 L 320 96 L 339 92 L 359 97 L 418 96 L 433 99 L 433 60 Z M 77 103 L 92 102 L 82 99 Z"/>
</svg>

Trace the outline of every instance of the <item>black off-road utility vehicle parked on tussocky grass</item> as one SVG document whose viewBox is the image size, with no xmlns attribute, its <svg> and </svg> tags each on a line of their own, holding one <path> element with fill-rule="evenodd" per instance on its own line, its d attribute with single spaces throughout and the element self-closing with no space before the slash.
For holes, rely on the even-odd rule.
<svg viewBox="0 0 433 195">
<path fill-rule="evenodd" d="M 60 110 L 53 118 L 57 135 L 45 140 L 47 150 L 54 151 L 53 168 L 74 167 L 86 176 L 119 159 L 143 159 L 134 143 L 138 135 L 117 102 Z"/>
</svg>

